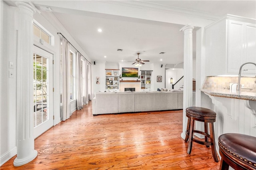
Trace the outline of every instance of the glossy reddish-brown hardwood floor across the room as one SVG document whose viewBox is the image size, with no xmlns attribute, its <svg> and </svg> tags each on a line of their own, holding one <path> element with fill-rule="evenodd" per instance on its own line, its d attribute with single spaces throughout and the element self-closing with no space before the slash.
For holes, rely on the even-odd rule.
<svg viewBox="0 0 256 170">
<path fill-rule="evenodd" d="M 38 156 L 1 170 L 218 170 L 211 148 L 180 137 L 182 110 L 92 116 L 91 103 L 35 140 Z"/>
</svg>

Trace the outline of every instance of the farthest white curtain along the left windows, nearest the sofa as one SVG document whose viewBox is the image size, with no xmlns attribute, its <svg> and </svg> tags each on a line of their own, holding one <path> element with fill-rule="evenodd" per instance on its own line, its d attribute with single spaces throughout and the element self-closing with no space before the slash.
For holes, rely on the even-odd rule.
<svg viewBox="0 0 256 170">
<path fill-rule="evenodd" d="M 85 87 L 84 87 L 84 104 L 88 104 L 88 101 L 91 100 L 92 96 L 92 81 L 91 81 L 91 64 L 89 61 L 85 61 L 85 67 L 84 67 L 84 73 L 85 73 Z"/>
</svg>

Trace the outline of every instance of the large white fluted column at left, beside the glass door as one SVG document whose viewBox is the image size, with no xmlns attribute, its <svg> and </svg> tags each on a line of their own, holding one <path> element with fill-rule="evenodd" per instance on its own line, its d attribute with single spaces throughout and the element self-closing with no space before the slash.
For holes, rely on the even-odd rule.
<svg viewBox="0 0 256 170">
<path fill-rule="evenodd" d="M 21 1 L 19 8 L 17 49 L 17 157 L 21 166 L 37 156 L 33 136 L 33 14 L 36 10 Z"/>
</svg>

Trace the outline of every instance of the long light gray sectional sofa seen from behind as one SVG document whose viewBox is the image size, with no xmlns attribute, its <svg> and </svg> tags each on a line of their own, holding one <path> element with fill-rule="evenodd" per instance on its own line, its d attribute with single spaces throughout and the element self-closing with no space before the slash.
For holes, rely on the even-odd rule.
<svg viewBox="0 0 256 170">
<path fill-rule="evenodd" d="M 183 91 L 96 92 L 92 115 L 183 109 Z"/>
</svg>

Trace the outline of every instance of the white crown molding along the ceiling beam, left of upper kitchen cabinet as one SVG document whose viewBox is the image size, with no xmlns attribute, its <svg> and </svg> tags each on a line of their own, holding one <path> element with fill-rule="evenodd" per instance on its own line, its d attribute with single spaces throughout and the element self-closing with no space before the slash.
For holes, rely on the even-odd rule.
<svg viewBox="0 0 256 170">
<path fill-rule="evenodd" d="M 222 16 L 215 15 L 215 14 L 209 14 L 206 12 L 198 12 L 195 10 L 189 10 L 189 9 L 184 9 L 184 8 L 177 8 L 173 6 L 166 6 L 162 4 L 156 4 L 150 1 L 110 1 L 110 0 L 104 0 L 100 1 L 104 3 L 109 3 L 109 4 L 115 4 L 115 5 L 120 5 L 120 6 L 128 6 L 132 8 L 140 8 L 140 9 L 146 9 L 146 10 L 152 10 L 156 12 L 165 12 L 165 13 L 170 13 L 170 14 L 178 14 L 178 15 L 183 15 L 183 16 L 190 16 L 190 17 L 195 17 L 195 18 L 202 18 L 206 20 L 213 20 L 216 21 Z"/>
</svg>

